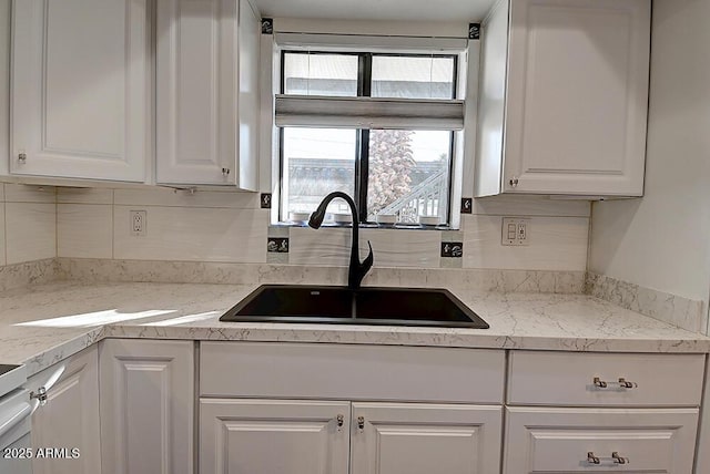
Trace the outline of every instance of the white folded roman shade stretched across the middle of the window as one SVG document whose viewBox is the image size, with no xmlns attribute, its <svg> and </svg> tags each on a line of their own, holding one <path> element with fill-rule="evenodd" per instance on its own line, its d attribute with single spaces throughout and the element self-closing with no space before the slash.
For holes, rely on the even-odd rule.
<svg viewBox="0 0 710 474">
<path fill-rule="evenodd" d="M 276 126 L 462 130 L 464 101 L 276 95 Z"/>
</svg>

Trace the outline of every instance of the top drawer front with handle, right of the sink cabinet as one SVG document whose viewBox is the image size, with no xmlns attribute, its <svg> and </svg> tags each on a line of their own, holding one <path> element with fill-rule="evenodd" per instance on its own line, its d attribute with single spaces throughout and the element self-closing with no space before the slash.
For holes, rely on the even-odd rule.
<svg viewBox="0 0 710 474">
<path fill-rule="evenodd" d="M 514 351 L 508 403 L 698 406 L 703 374 L 702 354 Z M 619 379 L 629 387 L 622 387 Z"/>
</svg>

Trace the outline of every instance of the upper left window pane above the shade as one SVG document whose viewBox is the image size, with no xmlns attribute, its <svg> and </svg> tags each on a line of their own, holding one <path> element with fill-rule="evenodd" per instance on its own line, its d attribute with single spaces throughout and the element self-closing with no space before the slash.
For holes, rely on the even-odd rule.
<svg viewBox="0 0 710 474">
<path fill-rule="evenodd" d="M 357 55 L 286 53 L 284 94 L 357 95 Z"/>
</svg>

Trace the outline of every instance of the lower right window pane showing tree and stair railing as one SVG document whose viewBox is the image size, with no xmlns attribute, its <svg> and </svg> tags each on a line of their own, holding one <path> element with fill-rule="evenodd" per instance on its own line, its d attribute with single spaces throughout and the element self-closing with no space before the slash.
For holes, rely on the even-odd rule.
<svg viewBox="0 0 710 474">
<path fill-rule="evenodd" d="M 367 219 L 394 214 L 397 221 L 419 216 L 447 221 L 452 132 L 372 130 Z"/>
</svg>

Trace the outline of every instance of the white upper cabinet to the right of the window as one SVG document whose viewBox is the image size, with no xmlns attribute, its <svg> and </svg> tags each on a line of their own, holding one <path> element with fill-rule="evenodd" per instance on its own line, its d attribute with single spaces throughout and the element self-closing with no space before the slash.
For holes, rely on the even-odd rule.
<svg viewBox="0 0 710 474">
<path fill-rule="evenodd" d="M 484 22 L 477 196 L 643 194 L 649 0 L 516 0 Z"/>
</svg>

